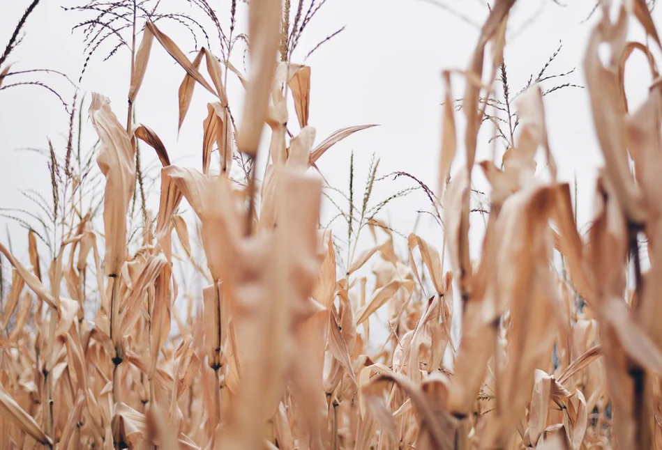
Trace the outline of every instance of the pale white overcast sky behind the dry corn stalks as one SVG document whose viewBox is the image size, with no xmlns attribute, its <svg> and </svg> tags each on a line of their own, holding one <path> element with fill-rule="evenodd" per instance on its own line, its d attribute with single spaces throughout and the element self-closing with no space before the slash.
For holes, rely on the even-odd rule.
<svg viewBox="0 0 662 450">
<path fill-rule="evenodd" d="M 443 0 L 442 0 L 443 1 Z M 15 23 L 29 1 L 3 1 L 0 14 L 0 45 L 4 47 Z M 20 47 L 12 54 L 13 69 L 49 68 L 65 72 L 76 80 L 84 60 L 82 35 L 71 28 L 83 19 L 82 15 L 67 13 L 61 5 L 72 6 L 76 2 L 44 0 L 29 18 L 26 35 Z M 81 2 L 78 2 L 80 4 Z M 230 1 L 213 0 L 219 15 L 225 16 Z M 439 158 L 440 118 L 442 101 L 441 71 L 466 67 L 478 36 L 478 27 L 487 14 L 483 0 L 445 0 L 462 15 L 452 15 L 444 8 L 423 0 L 328 0 L 304 34 L 293 62 L 303 56 L 319 40 L 346 26 L 345 31 L 322 46 L 306 61 L 312 66 L 312 92 L 310 125 L 317 129 L 316 142 L 322 141 L 341 127 L 376 123 L 379 127 L 354 134 L 329 150 L 319 168 L 333 186 L 347 190 L 349 155 L 355 153 L 357 183 L 361 187 L 370 157 L 380 158 L 379 175 L 391 171 L 407 171 L 430 187 L 437 186 Z M 597 16 L 585 23 L 594 6 L 593 0 L 566 0 L 562 7 L 551 0 L 520 0 L 513 9 L 509 22 L 506 45 L 506 65 L 511 89 L 519 91 L 536 75 L 562 42 L 563 48 L 548 69 L 550 74 L 576 71 L 564 81 L 584 84 L 582 57 L 587 34 Z M 193 10 L 188 1 L 163 1 L 165 8 L 202 16 Z M 240 29 L 248 6 L 239 3 Z M 659 10 L 654 11 L 659 22 Z M 209 22 L 205 22 L 209 23 Z M 181 27 L 163 25 L 166 31 L 183 49 L 193 50 L 193 41 Z M 631 36 L 641 38 L 635 24 Z M 104 50 L 107 52 L 107 49 Z M 102 52 L 103 53 L 103 52 Z M 83 92 L 103 93 L 112 101 L 116 114 L 126 116 L 128 91 L 128 59 L 121 50 L 103 62 L 103 54 L 93 56 L 83 79 Z M 234 58 L 233 58 L 234 59 Z M 241 55 L 236 59 L 241 65 Z M 627 91 L 631 103 L 638 104 L 647 92 L 651 81 L 647 65 L 641 56 L 631 59 L 626 72 Z M 151 52 L 149 67 L 140 95 L 137 98 L 137 121 L 155 130 L 165 142 L 170 157 L 176 164 L 200 168 L 202 146 L 202 120 L 206 116 L 206 102 L 211 96 L 198 86 L 192 106 L 177 137 L 177 88 L 183 70 L 156 43 Z M 232 77 L 231 77 L 232 78 Z M 28 78 L 26 78 L 28 79 Z M 29 79 L 43 79 L 69 101 L 73 88 L 54 75 L 42 75 Z M 554 86 L 555 81 L 544 87 Z M 241 89 L 236 79 L 228 87 L 231 103 L 241 104 Z M 463 84 L 459 77 L 453 79 L 453 95 L 462 95 Z M 590 203 L 594 192 L 596 169 L 602 160 L 596 145 L 590 118 L 587 92 L 579 88 L 566 88 L 545 98 L 550 143 L 562 180 L 578 179 L 578 212 L 580 224 L 592 215 Z M 86 108 L 86 107 L 85 107 Z M 294 110 L 291 109 L 294 118 Z M 86 113 L 86 111 L 84 111 Z M 241 116 L 238 112 L 236 117 Z M 20 196 L 21 189 L 33 188 L 50 194 L 46 160 L 36 153 L 20 151 L 20 148 L 45 148 L 47 138 L 52 139 L 57 151 L 63 153 L 66 143 L 68 117 L 59 100 L 42 88 L 22 86 L 0 91 L 0 206 L 10 208 L 34 208 Z M 82 140 L 85 146 L 93 145 L 96 135 L 84 114 Z M 294 122 L 294 121 L 292 121 Z M 458 116 L 462 127 L 462 118 Z M 477 160 L 491 156 L 487 145 L 486 130 L 481 136 Z M 460 131 L 460 134 L 462 132 Z M 269 133 L 266 132 L 266 139 Z M 148 149 L 149 150 L 149 149 Z M 499 152 L 504 148 L 499 147 Z M 462 150 L 460 148 L 460 152 Z M 151 175 L 158 174 L 156 158 L 144 151 L 145 167 Z M 474 171 L 477 187 L 484 187 L 479 171 Z M 412 186 L 406 181 L 381 181 L 375 188 L 375 201 L 393 192 Z M 360 188 L 359 188 L 360 189 Z M 428 208 L 426 197 L 416 192 L 407 199 L 386 208 L 384 217 L 393 226 L 407 234 L 412 230 L 418 213 Z M 325 206 L 324 216 L 331 217 L 333 208 Z M 24 242 L 25 232 L 13 222 L 8 224 L 12 239 Z M 428 216 L 422 218 L 421 233 L 437 245 L 442 238 L 438 227 Z M 6 240 L 4 231 L 0 240 Z M 476 250 L 479 240 L 474 239 Z M 25 257 L 24 245 L 17 245 L 18 256 Z"/>
</svg>

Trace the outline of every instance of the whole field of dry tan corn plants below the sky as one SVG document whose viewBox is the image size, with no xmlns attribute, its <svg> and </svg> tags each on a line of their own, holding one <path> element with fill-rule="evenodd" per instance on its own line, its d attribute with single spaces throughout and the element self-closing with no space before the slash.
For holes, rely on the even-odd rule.
<svg viewBox="0 0 662 450">
<path fill-rule="evenodd" d="M 89 116 L 106 182 L 103 230 L 90 215 L 72 215 L 47 272 L 33 235 L 30 265 L 0 245 L 14 267 L 1 315 L 2 447 L 662 449 L 662 85 L 654 82 L 637 111 L 624 94 L 633 52 L 643 52 L 658 77 L 648 47 L 626 40 L 631 17 L 654 45 L 659 36 L 643 0 L 625 1 L 615 22 L 603 2 L 590 34 L 585 73 L 605 169 L 588 238 L 578 233 L 569 186 L 557 182 L 543 98 L 532 86 L 518 104 L 516 146 L 500 167 L 477 164 L 492 191 L 481 258 L 471 261 L 469 186 L 490 107 L 481 99 L 494 84 L 481 80 L 496 78 L 514 3 L 495 1 L 460 74 L 467 80 L 466 164 L 452 176 L 459 113 L 453 74 L 444 76 L 437 193 L 444 242 L 411 234 L 408 254 L 399 256 L 393 235 L 375 227 L 375 247 L 359 252 L 340 277 L 331 232 L 319 227 L 322 180 L 309 169 L 363 127 L 313 145 L 310 68 L 275 59 L 280 2 L 250 2 L 249 77 L 204 49 L 189 61 L 149 24 L 129 103 L 156 38 L 186 70 L 180 125 L 196 84 L 218 98 L 207 105 L 202 171 L 170 164 L 156 133 L 130 116 L 124 127 L 107 99 L 93 95 Z M 599 57 L 605 45 L 608 59 Z M 200 72 L 203 56 L 211 83 Z M 238 130 L 223 84 L 228 70 L 246 88 Z M 289 93 L 296 137 L 288 129 Z M 233 155 L 255 157 L 265 122 L 271 142 L 262 185 L 254 173 L 246 185 L 232 182 Z M 156 150 L 163 169 L 156 226 L 146 227 L 144 245 L 129 254 L 137 139 Z M 215 144 L 218 173 L 210 168 Z M 536 174 L 539 148 L 548 176 Z M 183 199 L 200 221 L 206 267 L 191 255 L 178 213 Z M 183 254 L 173 250 L 173 231 Z M 640 234 L 648 241 L 645 273 Z M 444 272 L 444 245 L 452 271 Z M 174 304 L 183 297 L 174 260 L 209 281 L 186 305 Z M 368 261 L 373 270 L 364 274 Z M 453 311 L 453 285 L 462 311 Z M 93 323 L 83 314 L 92 297 L 99 302 Z M 368 323 L 384 306 L 389 337 L 375 351 Z M 461 316 L 459 346 L 451 339 L 453 313 Z"/>
</svg>

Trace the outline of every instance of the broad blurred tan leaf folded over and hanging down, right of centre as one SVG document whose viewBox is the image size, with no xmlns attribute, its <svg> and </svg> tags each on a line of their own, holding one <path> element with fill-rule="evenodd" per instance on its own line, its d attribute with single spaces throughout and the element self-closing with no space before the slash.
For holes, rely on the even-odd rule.
<svg viewBox="0 0 662 450">
<path fill-rule="evenodd" d="M 502 414 L 501 432 L 521 414 L 533 387 L 532 374 L 546 357 L 561 322 L 559 300 L 546 265 L 551 257 L 548 219 L 554 206 L 550 187 L 532 187 L 506 199 L 497 221 L 500 249 L 496 267 L 497 313 L 510 308 L 512 331 L 497 396 L 509 398 L 513 414 Z M 506 244 L 507 242 L 507 244 Z M 500 434 L 500 433 L 499 433 Z"/>
</svg>

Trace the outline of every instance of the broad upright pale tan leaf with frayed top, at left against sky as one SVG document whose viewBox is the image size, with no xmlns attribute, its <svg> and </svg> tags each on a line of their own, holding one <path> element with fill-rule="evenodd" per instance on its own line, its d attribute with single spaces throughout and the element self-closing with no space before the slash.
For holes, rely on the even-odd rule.
<svg viewBox="0 0 662 450">
<path fill-rule="evenodd" d="M 107 275 L 119 275 L 126 260 L 126 217 L 135 185 L 135 152 L 126 130 L 110 109 L 107 98 L 93 93 L 89 107 L 92 125 L 101 141 L 97 164 L 106 178 L 103 201 Z"/>
</svg>

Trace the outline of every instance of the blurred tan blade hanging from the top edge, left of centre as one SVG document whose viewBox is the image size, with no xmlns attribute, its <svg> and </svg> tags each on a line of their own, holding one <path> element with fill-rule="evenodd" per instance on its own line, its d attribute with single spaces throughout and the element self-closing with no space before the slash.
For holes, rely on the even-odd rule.
<svg viewBox="0 0 662 450">
<path fill-rule="evenodd" d="M 248 9 L 250 77 L 241 127 L 236 137 L 237 147 L 248 155 L 257 153 L 257 145 L 266 119 L 271 78 L 276 68 L 276 52 L 280 43 L 280 19 L 280 1 L 255 0 L 250 3 Z"/>
</svg>

